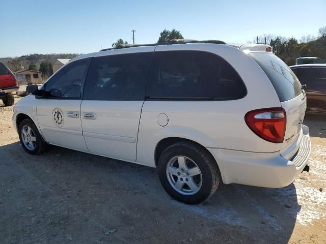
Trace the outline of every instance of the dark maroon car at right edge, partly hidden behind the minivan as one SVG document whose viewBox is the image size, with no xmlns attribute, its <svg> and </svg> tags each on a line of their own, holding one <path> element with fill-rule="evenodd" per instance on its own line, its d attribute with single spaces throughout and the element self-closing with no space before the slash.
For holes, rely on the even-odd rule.
<svg viewBox="0 0 326 244">
<path fill-rule="evenodd" d="M 326 64 L 290 66 L 307 94 L 307 113 L 326 115 Z"/>
</svg>

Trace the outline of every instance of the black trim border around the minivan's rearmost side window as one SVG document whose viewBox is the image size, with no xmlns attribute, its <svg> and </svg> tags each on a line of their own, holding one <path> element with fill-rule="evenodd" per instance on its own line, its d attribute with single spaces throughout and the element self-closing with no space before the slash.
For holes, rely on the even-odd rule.
<svg viewBox="0 0 326 244">
<path fill-rule="evenodd" d="M 155 51 L 156 48 L 154 49 L 154 52 L 153 52 L 153 56 L 152 56 L 152 59 L 151 59 L 151 63 L 150 63 L 150 67 L 149 67 L 149 70 L 148 70 L 148 76 L 147 76 L 147 80 L 146 80 L 146 86 L 145 86 L 145 101 L 176 101 L 176 102 L 181 102 L 181 101 L 235 101 L 235 100 L 240 100 L 240 99 L 243 99 L 245 97 L 247 97 L 248 95 L 248 89 L 247 89 L 247 86 L 246 86 L 246 83 L 243 81 L 242 77 L 240 76 L 240 74 L 237 72 L 237 70 L 222 56 L 220 56 L 219 54 L 217 53 L 214 53 L 214 52 L 210 52 L 210 51 L 205 51 L 205 50 L 181 50 L 181 49 L 178 49 L 178 50 L 159 50 L 159 51 Z M 209 54 L 212 54 L 212 55 L 215 55 L 215 56 L 218 56 L 219 58 L 221 58 L 222 60 L 224 60 L 224 62 L 226 62 L 228 65 L 230 65 L 232 67 L 232 69 L 235 71 L 235 73 L 239 76 L 239 78 L 241 79 L 241 82 L 244 86 L 244 89 L 246 90 L 246 93 L 244 94 L 243 97 L 240 97 L 240 98 L 229 98 L 229 99 L 219 99 L 219 98 L 196 98 L 196 97 L 174 97 L 174 98 L 165 98 L 165 97 L 152 97 L 152 96 L 146 96 L 146 92 L 147 92 L 147 85 L 149 83 L 149 74 L 151 72 L 151 68 L 152 68 L 152 64 L 153 64 L 153 60 L 154 60 L 154 57 L 155 57 L 155 52 L 157 53 L 160 53 L 160 52 L 205 52 L 205 53 L 209 53 Z"/>
</svg>

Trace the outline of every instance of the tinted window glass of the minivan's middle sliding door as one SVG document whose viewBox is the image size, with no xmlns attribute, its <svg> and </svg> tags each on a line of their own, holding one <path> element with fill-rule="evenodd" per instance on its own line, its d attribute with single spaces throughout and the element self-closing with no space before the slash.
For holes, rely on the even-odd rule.
<svg viewBox="0 0 326 244">
<path fill-rule="evenodd" d="M 145 52 L 93 58 L 84 100 L 144 100 L 151 57 Z"/>
</svg>

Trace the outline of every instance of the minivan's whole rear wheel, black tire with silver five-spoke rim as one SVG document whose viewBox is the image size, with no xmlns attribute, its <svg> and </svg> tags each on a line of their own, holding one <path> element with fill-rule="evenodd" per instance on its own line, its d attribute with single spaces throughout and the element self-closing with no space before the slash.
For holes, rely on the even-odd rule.
<svg viewBox="0 0 326 244">
<path fill-rule="evenodd" d="M 188 141 L 164 150 L 157 167 L 163 188 L 187 204 L 207 200 L 218 188 L 221 178 L 218 165 L 205 148 Z"/>
</svg>

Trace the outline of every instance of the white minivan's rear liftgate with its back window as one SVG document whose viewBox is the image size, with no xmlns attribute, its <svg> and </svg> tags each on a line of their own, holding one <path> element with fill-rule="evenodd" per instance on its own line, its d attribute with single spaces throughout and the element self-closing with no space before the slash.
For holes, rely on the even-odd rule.
<svg viewBox="0 0 326 244">
<path fill-rule="evenodd" d="M 291 69 L 276 55 L 266 52 L 249 54 L 262 68 L 286 111 L 286 131 L 281 155 L 291 158 L 302 140 L 302 123 L 306 112 L 306 94 Z"/>
</svg>

